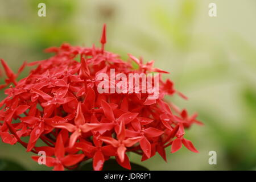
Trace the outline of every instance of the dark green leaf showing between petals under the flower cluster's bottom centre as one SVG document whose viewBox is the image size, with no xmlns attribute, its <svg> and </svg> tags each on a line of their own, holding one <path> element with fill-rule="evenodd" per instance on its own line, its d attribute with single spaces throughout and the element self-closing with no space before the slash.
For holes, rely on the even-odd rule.
<svg viewBox="0 0 256 182">
<path fill-rule="evenodd" d="M 88 162 L 79 167 L 79 171 L 92 171 L 93 170 L 93 163 Z M 123 168 L 120 166 L 115 159 L 109 159 L 104 163 L 103 169 L 104 171 L 129 171 L 128 169 Z M 132 171 L 149 171 L 146 167 L 143 167 L 139 164 L 131 163 L 131 170 Z"/>
</svg>

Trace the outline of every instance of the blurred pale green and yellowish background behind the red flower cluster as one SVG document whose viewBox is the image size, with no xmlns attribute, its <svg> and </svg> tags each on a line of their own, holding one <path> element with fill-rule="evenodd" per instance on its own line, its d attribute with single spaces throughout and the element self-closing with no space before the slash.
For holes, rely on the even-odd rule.
<svg viewBox="0 0 256 182">
<path fill-rule="evenodd" d="M 40 2 L 46 17 L 38 16 Z M 208 15 L 211 2 L 217 4 L 214 18 Z M 170 154 L 168 147 L 168 163 L 159 155 L 140 162 L 131 154 L 131 161 L 150 170 L 256 170 L 255 17 L 255 0 L 0 0 L 0 57 L 17 71 L 25 60 L 47 59 L 43 49 L 63 42 L 100 46 L 106 23 L 106 49 L 123 59 L 127 53 L 153 59 L 155 67 L 170 71 L 189 100 L 168 99 L 189 114 L 197 111 L 205 123 L 186 134 L 200 154 L 184 147 Z M 217 152 L 217 165 L 208 163 L 209 151 Z M 0 142 L 1 159 L 49 169 L 31 155 L 20 144 Z"/>
</svg>

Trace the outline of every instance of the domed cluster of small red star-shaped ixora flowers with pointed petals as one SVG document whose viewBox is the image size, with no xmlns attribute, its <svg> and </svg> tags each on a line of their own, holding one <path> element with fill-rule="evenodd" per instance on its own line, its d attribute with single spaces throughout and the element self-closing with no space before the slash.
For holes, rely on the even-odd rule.
<svg viewBox="0 0 256 182">
<path fill-rule="evenodd" d="M 127 152 L 142 155 L 142 161 L 158 152 L 166 160 L 168 146 L 171 152 L 178 151 L 182 145 L 197 152 L 192 142 L 184 138 L 184 129 L 201 122 L 196 114 L 189 117 L 187 110 L 164 100 L 164 96 L 174 94 L 186 99 L 171 80 L 162 80 L 161 75 L 168 72 L 154 68 L 154 61 L 143 64 L 142 59 L 130 54 L 130 59 L 123 61 L 105 51 L 105 43 L 104 25 L 101 48 L 69 44 L 51 47 L 46 52 L 55 56 L 24 63 L 16 74 L 1 60 L 7 78 L 0 88 L 10 85 L 5 89 L 7 97 L 0 102 L 2 142 L 18 142 L 27 152 L 35 154 L 46 152 L 46 166 L 54 170 L 74 169 L 89 159 L 93 160 L 94 170 L 101 170 L 104 162 L 112 157 L 120 166 L 131 169 Z M 16 81 L 26 66 L 36 68 Z M 115 75 L 122 73 L 122 79 L 112 79 L 113 70 Z M 98 92 L 99 86 L 102 87 L 102 80 L 98 79 L 102 73 L 104 79 L 106 75 L 109 79 L 105 80 L 104 89 L 129 88 L 129 92 Z M 159 76 L 152 76 L 146 84 L 139 81 L 143 76 L 135 85 L 130 85 L 130 80 L 123 81 L 131 74 L 151 73 Z M 159 87 L 158 97 L 152 99 L 154 93 L 143 92 L 148 84 L 151 88 Z M 23 141 L 24 137 L 29 138 L 28 143 Z M 38 146 L 38 140 L 44 145 Z M 32 159 L 38 161 L 39 156 Z"/>
</svg>

